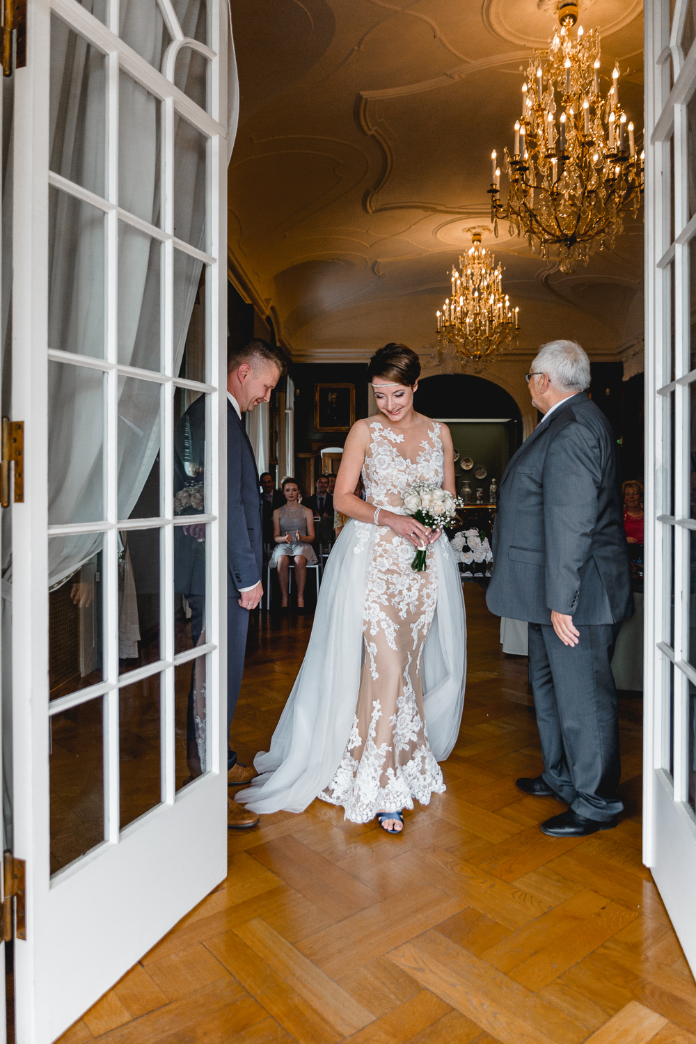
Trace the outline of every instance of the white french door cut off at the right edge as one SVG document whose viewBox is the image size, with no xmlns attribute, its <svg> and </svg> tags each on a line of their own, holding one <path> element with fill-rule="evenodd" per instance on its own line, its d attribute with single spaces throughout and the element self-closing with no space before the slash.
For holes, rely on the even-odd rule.
<svg viewBox="0 0 696 1044">
<path fill-rule="evenodd" d="M 696 971 L 696 9 L 646 0 L 644 861 Z"/>
</svg>

